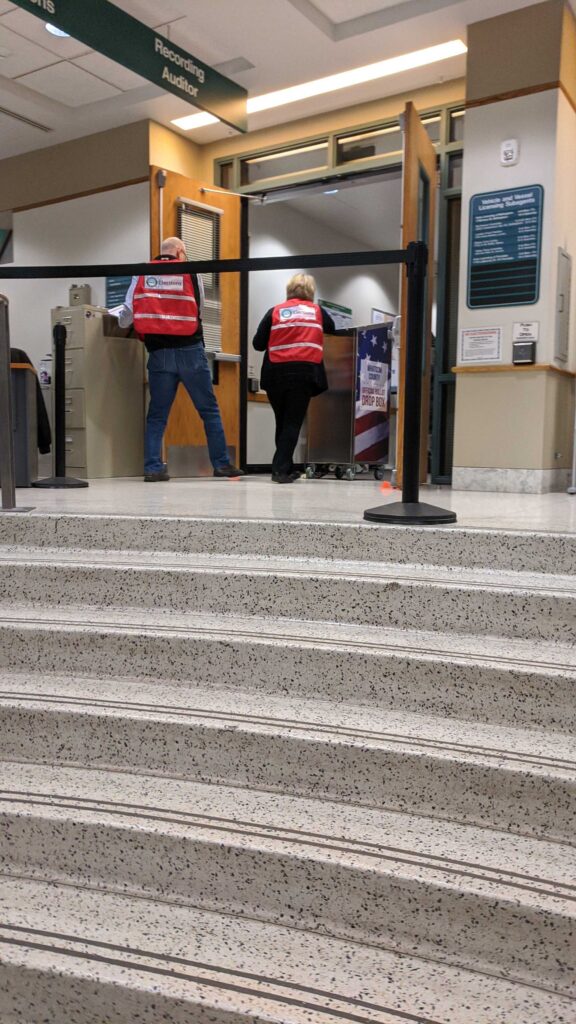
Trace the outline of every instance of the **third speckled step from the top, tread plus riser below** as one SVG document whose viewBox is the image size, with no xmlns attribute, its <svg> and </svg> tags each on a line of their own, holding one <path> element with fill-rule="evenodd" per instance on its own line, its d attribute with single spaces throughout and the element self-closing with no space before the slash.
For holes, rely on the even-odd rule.
<svg viewBox="0 0 576 1024">
<path fill-rule="evenodd" d="M 576 740 L 351 703 L 0 674 L 0 757 L 343 801 L 570 842 Z"/>
</svg>

